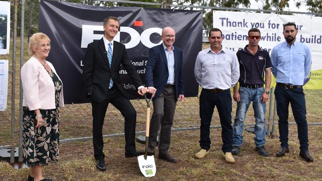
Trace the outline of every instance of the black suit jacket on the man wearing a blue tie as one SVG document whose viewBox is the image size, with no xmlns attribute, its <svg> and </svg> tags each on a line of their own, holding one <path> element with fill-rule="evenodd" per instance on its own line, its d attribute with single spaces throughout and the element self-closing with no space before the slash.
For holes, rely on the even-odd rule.
<svg viewBox="0 0 322 181">
<path fill-rule="evenodd" d="M 103 38 L 88 44 L 83 68 L 83 82 L 86 94 L 96 102 L 102 102 L 106 98 L 109 81 L 112 78 L 113 84 L 126 97 L 119 74 L 121 64 L 135 87 L 143 86 L 139 74 L 127 57 L 125 45 L 114 41 L 112 63 L 111 67 L 109 67 Z"/>
</svg>

